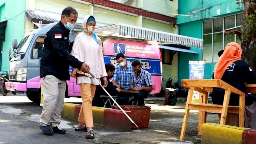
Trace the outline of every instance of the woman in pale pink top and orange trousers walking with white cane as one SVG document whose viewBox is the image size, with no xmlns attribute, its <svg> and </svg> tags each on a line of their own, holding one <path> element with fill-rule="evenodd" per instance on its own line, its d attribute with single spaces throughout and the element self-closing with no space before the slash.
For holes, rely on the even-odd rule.
<svg viewBox="0 0 256 144">
<path fill-rule="evenodd" d="M 100 38 L 94 33 L 95 18 L 87 15 L 83 20 L 84 31 L 78 34 L 74 40 L 71 54 L 82 62 L 89 65 L 90 73 L 92 73 L 100 82 L 103 77 L 104 87 L 108 85 L 105 70 L 103 51 Z M 78 69 L 72 70 L 73 77 L 76 77 L 76 84 L 80 85 L 82 96 L 82 107 L 79 113 L 79 125 L 75 131 L 87 131 L 86 138 L 94 139 L 93 133 L 93 111 L 91 103 L 98 83 L 88 73 L 83 73 Z M 86 125 L 86 127 L 84 126 Z"/>
</svg>

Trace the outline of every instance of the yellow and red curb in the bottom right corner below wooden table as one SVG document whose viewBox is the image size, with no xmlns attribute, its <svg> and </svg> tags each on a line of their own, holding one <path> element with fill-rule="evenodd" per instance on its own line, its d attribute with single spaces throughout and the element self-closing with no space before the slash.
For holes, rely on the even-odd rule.
<svg viewBox="0 0 256 144">
<path fill-rule="evenodd" d="M 256 144 L 256 130 L 204 123 L 201 144 Z"/>
</svg>

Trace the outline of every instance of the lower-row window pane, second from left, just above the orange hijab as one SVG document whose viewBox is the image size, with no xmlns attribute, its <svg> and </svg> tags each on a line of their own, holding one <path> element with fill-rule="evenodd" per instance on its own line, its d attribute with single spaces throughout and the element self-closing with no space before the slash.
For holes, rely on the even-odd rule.
<svg viewBox="0 0 256 144">
<path fill-rule="evenodd" d="M 223 33 L 216 33 L 213 34 L 213 62 L 218 61 L 220 50 L 223 50 Z"/>
</svg>

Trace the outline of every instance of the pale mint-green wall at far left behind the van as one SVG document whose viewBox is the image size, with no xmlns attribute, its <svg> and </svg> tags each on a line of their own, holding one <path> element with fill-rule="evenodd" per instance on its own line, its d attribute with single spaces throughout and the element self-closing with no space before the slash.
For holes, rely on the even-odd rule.
<svg viewBox="0 0 256 144">
<path fill-rule="evenodd" d="M 17 38 L 18 42 L 24 37 L 26 0 L 1 0 L 0 1 L 0 22 L 7 20 L 5 29 L 5 41 L 2 52 L 2 72 L 9 70 L 9 48 L 12 46 L 12 39 Z"/>
</svg>

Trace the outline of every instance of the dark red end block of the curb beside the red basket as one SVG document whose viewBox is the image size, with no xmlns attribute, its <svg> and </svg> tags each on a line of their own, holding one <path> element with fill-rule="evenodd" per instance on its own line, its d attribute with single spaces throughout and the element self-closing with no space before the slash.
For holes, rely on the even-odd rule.
<svg viewBox="0 0 256 144">
<path fill-rule="evenodd" d="M 131 111 L 125 112 L 131 116 Z M 106 109 L 104 112 L 104 127 L 116 131 L 131 131 L 131 122 L 121 110 Z"/>
</svg>

